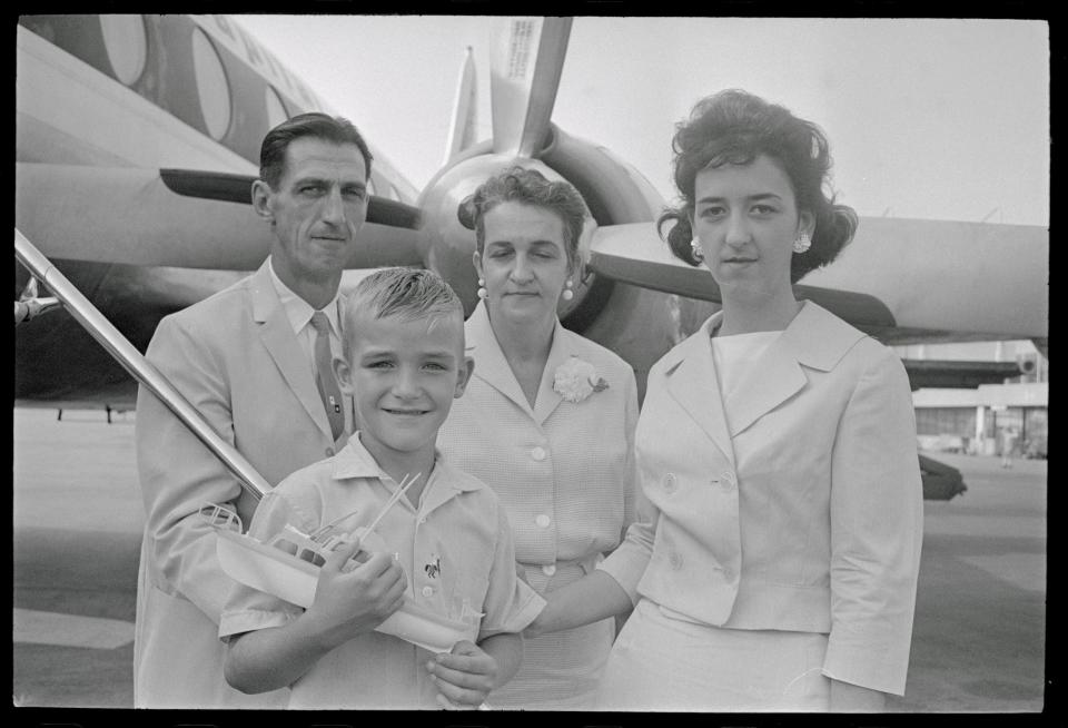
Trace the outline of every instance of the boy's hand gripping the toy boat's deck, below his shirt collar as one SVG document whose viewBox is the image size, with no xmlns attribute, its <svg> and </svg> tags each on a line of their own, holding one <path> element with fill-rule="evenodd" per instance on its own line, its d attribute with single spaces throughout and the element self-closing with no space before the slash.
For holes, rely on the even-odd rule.
<svg viewBox="0 0 1068 728">
<path fill-rule="evenodd" d="M 315 602 L 305 612 L 330 648 L 369 632 L 404 602 L 404 569 L 392 554 L 375 553 L 352 568 L 359 550 L 352 543 L 333 551 L 319 569 Z"/>
</svg>

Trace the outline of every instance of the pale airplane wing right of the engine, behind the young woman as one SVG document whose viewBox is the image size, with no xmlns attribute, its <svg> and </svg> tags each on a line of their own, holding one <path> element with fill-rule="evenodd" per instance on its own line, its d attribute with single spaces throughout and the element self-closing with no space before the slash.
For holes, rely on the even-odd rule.
<svg viewBox="0 0 1068 728">
<path fill-rule="evenodd" d="M 1049 233 L 1025 225 L 861 218 L 856 239 L 794 286 L 884 343 L 1049 335 Z M 709 272 L 671 255 L 655 225 L 600 227 L 590 267 L 609 278 L 720 303 Z"/>
</svg>

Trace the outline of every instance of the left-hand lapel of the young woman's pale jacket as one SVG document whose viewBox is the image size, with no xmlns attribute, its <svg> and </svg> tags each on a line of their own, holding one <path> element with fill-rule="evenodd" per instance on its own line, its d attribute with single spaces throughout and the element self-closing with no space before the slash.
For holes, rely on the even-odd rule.
<svg viewBox="0 0 1068 728">
<path fill-rule="evenodd" d="M 709 435 L 715 446 L 734 464 L 734 447 L 723 415 L 720 387 L 715 382 L 715 364 L 709 342 L 710 325 L 719 323 L 715 314 L 676 351 L 678 361 L 666 370 L 668 393 Z M 710 381 L 711 380 L 711 381 Z"/>
</svg>

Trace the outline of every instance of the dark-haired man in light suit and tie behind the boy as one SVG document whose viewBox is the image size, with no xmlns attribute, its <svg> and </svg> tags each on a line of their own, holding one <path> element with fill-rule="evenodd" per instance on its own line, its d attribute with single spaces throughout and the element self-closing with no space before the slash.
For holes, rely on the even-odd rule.
<svg viewBox="0 0 1068 728">
<path fill-rule="evenodd" d="M 366 218 L 370 163 L 345 119 L 305 114 L 271 129 L 251 190 L 274 233 L 269 257 L 164 318 L 148 347 L 148 360 L 273 485 L 333 455 L 353 430 L 350 399 L 328 363 L 319 372 L 340 352 L 337 292 Z M 218 621 L 233 581 L 216 558 L 212 527 L 198 515 L 205 503 L 228 503 L 247 524 L 255 500 L 144 387 L 136 436 L 147 521 L 135 706 L 283 707 L 286 690 L 246 696 L 222 677 Z"/>
</svg>

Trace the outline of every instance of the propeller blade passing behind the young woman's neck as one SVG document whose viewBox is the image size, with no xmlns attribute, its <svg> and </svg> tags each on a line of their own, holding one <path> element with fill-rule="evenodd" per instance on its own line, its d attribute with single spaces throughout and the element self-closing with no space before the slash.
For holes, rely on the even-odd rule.
<svg viewBox="0 0 1068 728">
<path fill-rule="evenodd" d="M 599 227 L 591 240 L 589 267 L 622 283 L 723 303 L 708 268 L 695 268 L 675 258 L 660 239 L 655 223 Z M 893 314 L 874 296 L 803 285 L 795 285 L 793 291 L 799 299 L 812 301 L 859 328 L 896 325 Z"/>
</svg>

